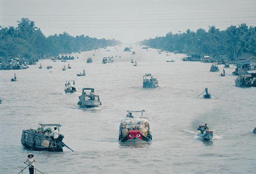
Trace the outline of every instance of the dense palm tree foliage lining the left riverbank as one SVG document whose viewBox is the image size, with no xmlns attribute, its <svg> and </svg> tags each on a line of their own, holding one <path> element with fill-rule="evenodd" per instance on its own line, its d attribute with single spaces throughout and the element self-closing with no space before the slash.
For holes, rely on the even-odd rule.
<svg viewBox="0 0 256 174">
<path fill-rule="evenodd" d="M 87 51 L 119 43 L 117 40 L 96 39 L 88 36 L 70 36 L 67 32 L 45 37 L 34 21 L 22 18 L 17 28 L 0 29 L 0 57 L 34 58 L 42 55 Z"/>
</svg>

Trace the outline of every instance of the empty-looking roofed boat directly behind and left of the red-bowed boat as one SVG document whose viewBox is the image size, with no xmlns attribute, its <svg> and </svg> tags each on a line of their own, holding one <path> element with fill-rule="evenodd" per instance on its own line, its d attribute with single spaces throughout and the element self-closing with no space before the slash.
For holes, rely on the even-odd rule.
<svg viewBox="0 0 256 174">
<path fill-rule="evenodd" d="M 87 94 L 87 93 L 88 94 Z M 82 95 L 77 103 L 81 108 L 92 108 L 102 105 L 99 96 L 94 94 L 94 88 L 83 88 Z"/>
</svg>

